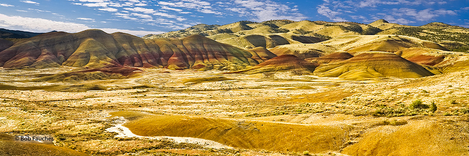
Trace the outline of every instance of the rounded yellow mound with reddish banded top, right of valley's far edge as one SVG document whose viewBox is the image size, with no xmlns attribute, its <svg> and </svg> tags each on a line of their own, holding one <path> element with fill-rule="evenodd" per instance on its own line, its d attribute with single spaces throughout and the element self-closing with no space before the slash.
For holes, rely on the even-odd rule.
<svg viewBox="0 0 469 156">
<path fill-rule="evenodd" d="M 382 77 L 420 78 L 434 75 L 422 66 L 387 52 L 367 52 L 316 68 L 318 76 L 366 80 Z"/>
</svg>

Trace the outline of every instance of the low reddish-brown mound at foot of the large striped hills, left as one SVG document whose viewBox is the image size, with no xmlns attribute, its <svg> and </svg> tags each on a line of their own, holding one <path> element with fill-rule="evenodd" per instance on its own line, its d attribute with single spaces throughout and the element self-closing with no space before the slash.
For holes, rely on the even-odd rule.
<svg viewBox="0 0 469 156">
<path fill-rule="evenodd" d="M 100 69 L 87 69 L 56 75 L 45 76 L 35 79 L 35 82 L 79 82 L 88 80 L 109 80 L 109 79 L 125 79 L 132 77 L 136 71 L 141 71 L 136 68 L 113 67 L 113 68 L 100 68 Z"/>
</svg>

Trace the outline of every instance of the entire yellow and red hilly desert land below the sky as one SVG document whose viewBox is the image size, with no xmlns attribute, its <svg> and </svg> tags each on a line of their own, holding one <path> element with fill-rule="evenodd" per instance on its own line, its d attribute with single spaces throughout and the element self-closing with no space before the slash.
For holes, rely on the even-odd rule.
<svg viewBox="0 0 469 156">
<path fill-rule="evenodd" d="M 143 38 L 2 31 L 0 155 L 469 151 L 467 28 L 270 20 Z"/>
</svg>

